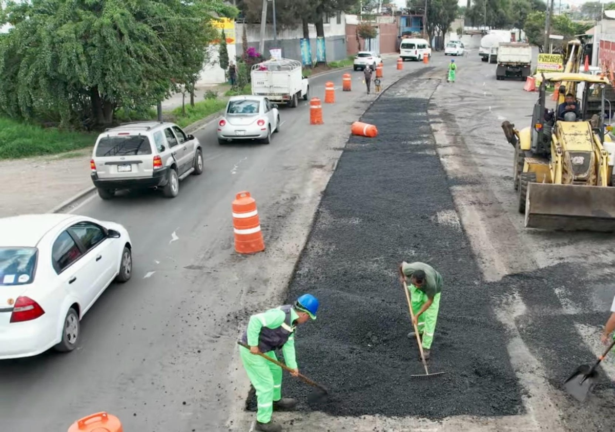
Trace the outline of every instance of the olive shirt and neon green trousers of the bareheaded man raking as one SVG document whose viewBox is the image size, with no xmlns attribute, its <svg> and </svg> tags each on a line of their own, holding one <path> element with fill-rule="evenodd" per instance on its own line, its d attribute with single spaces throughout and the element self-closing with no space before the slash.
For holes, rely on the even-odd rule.
<svg viewBox="0 0 615 432">
<path fill-rule="evenodd" d="M 421 288 L 411 283 L 408 285 L 412 302 L 412 313 L 416 314 L 421 310 L 423 305 L 429 299 L 434 299 L 434 302 L 425 312 L 418 318 L 419 334 L 423 335 L 423 348 L 431 349 L 431 344 L 434 342 L 435 323 L 438 320 L 438 310 L 440 310 L 440 294 L 442 292 L 442 276 L 434 267 L 424 262 L 403 262 L 402 272 L 407 278 L 411 278 L 416 270 L 425 272 L 425 281 Z"/>
</svg>

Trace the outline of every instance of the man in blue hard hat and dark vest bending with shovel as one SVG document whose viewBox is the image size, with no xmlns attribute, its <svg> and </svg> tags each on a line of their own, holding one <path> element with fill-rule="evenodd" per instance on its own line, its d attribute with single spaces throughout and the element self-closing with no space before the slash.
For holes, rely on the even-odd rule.
<svg viewBox="0 0 615 432">
<path fill-rule="evenodd" d="M 256 390 L 256 430 L 280 432 L 282 426 L 271 421 L 274 410 L 293 409 L 296 400 L 282 398 L 282 368 L 257 355 L 259 352 L 276 359 L 275 350 L 282 350 L 286 365 L 299 373 L 295 359 L 295 327 L 310 318 L 316 319 L 319 302 L 311 294 L 299 297 L 294 305 L 284 305 L 250 316 L 239 347 L 241 361 Z"/>
</svg>

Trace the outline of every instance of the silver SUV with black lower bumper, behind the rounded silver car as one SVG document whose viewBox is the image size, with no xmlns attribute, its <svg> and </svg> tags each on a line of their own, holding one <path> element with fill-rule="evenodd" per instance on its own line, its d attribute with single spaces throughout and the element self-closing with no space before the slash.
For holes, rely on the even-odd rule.
<svg viewBox="0 0 615 432">
<path fill-rule="evenodd" d="M 134 122 L 98 136 L 90 168 L 103 200 L 113 198 L 116 190 L 150 187 L 173 198 L 180 180 L 203 172 L 203 152 L 199 140 L 176 124 Z"/>
</svg>

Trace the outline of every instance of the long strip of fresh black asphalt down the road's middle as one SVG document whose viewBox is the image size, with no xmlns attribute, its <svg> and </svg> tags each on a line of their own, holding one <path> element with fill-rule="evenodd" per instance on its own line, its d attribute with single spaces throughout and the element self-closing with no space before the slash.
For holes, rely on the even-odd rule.
<svg viewBox="0 0 615 432">
<path fill-rule="evenodd" d="M 454 211 L 435 154 L 427 99 L 395 97 L 391 87 L 361 121 L 378 138 L 352 136 L 323 194 L 290 285 L 320 300 L 316 321 L 297 330 L 301 372 L 331 391 L 330 403 L 306 406 L 333 415 L 441 418 L 508 415 L 522 410 L 504 329 L 491 312 L 469 242 L 437 223 Z M 417 84 L 418 85 L 418 84 Z M 397 277 L 401 261 L 434 265 L 445 287 L 432 346 L 431 378 Z M 306 401 L 311 389 L 285 375 L 286 396 Z"/>
</svg>

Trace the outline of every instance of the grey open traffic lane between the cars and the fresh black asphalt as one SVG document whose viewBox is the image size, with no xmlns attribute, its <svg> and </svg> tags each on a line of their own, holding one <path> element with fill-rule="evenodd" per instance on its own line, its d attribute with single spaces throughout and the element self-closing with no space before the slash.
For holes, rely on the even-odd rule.
<svg viewBox="0 0 615 432">
<path fill-rule="evenodd" d="M 432 63 L 442 63 L 435 58 Z M 384 61 L 383 84 L 421 63 Z M 344 71 L 345 72 L 345 71 Z M 280 299 L 311 226 L 320 192 L 335 168 L 349 125 L 375 98 L 362 73 L 341 92 L 341 74 L 311 81 L 311 96 L 336 85 L 323 104 L 325 124 L 309 125 L 309 102 L 280 109 L 272 143 L 219 146 L 216 124 L 194 135 L 205 171 L 159 192 L 98 197 L 73 213 L 124 224 L 134 243 L 132 280 L 111 285 L 82 320 L 81 344 L 0 364 L 2 430 L 62 431 L 77 418 L 107 410 L 126 431 L 223 430 L 242 383 L 232 363 L 240 323 Z M 231 202 L 241 190 L 256 198 L 268 250 L 233 251 Z M 245 377 L 240 380 L 245 382 Z"/>
</svg>

